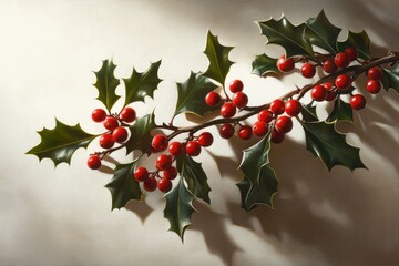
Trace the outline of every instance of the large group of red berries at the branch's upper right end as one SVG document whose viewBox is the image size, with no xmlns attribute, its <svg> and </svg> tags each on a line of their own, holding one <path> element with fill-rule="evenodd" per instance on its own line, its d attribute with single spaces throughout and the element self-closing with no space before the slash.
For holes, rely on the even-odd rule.
<svg viewBox="0 0 399 266">
<path fill-rule="evenodd" d="M 306 62 L 301 65 L 301 74 L 307 79 L 311 79 L 316 74 L 316 68 L 320 65 L 323 70 L 328 73 L 335 73 L 339 69 L 347 68 L 352 61 L 356 61 L 358 53 L 356 49 L 349 47 L 344 52 L 339 52 L 335 55 L 325 57 L 323 62 L 310 63 Z M 289 72 L 295 68 L 295 60 L 293 58 L 286 59 L 282 55 L 277 60 L 277 68 L 282 72 Z M 369 93 L 378 93 L 381 89 L 382 71 L 380 68 L 371 68 L 368 70 L 367 75 L 369 81 L 366 90 Z M 338 75 L 334 82 L 325 82 L 323 84 L 315 85 L 310 91 L 310 96 L 317 102 L 335 101 L 338 94 L 350 93 L 352 78 L 347 74 Z M 366 99 L 361 94 L 351 94 L 350 106 L 354 110 L 361 110 L 366 106 Z"/>
</svg>

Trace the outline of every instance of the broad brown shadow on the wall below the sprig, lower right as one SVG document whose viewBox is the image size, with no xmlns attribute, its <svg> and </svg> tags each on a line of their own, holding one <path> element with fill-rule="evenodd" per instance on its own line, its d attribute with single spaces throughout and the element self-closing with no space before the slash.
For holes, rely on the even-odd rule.
<svg viewBox="0 0 399 266">
<path fill-rule="evenodd" d="M 382 110 L 386 119 L 398 115 L 388 101 L 381 100 L 376 110 L 365 110 L 360 114 L 361 121 L 356 119 L 357 125 L 366 125 L 356 129 L 356 132 L 376 157 L 392 162 L 392 156 L 396 157 L 396 154 L 390 153 L 392 144 L 398 151 L 392 134 L 382 127 L 374 127 L 372 134 L 368 130 L 375 121 L 381 119 L 376 113 Z M 391 126 L 398 129 L 399 123 Z M 374 134 L 383 136 L 385 141 L 379 142 Z M 239 158 L 242 147 L 235 149 L 235 153 Z M 399 183 L 392 182 L 392 177 L 399 176 L 399 171 L 393 162 L 395 176 L 379 175 L 372 170 L 351 173 L 340 166 L 328 173 L 304 145 L 289 139 L 279 146 L 274 145 L 270 161 L 279 177 L 279 193 L 275 196 L 274 211 L 260 206 L 245 213 L 237 202 L 227 203 L 227 214 L 215 213 L 205 205 L 196 207 L 201 215 L 195 215 L 190 229 L 203 233 L 211 253 L 218 255 L 226 265 L 232 265 L 234 254 L 241 250 L 226 231 L 224 222 L 227 219 L 252 229 L 265 242 L 273 243 L 284 257 L 296 262 L 294 265 L 374 266 L 399 263 L 396 249 L 399 245 L 399 231 L 396 227 L 399 213 L 395 204 L 381 202 L 380 195 L 382 191 L 391 188 L 391 195 L 396 196 L 382 197 L 382 201 L 399 200 L 395 193 L 398 192 Z M 221 173 L 229 176 L 237 174 L 234 171 L 237 163 L 227 162 L 229 167 L 225 158 L 216 158 L 216 162 L 225 166 Z M 254 226 L 254 218 L 262 225 L 260 232 Z M 308 264 L 314 256 L 309 252 L 315 250 L 323 259 Z"/>
</svg>

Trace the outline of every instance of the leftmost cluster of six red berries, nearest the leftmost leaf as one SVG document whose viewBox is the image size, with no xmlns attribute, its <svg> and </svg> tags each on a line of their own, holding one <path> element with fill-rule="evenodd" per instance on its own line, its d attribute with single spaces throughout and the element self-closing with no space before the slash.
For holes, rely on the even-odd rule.
<svg viewBox="0 0 399 266">
<path fill-rule="evenodd" d="M 103 149 L 112 149 L 115 143 L 122 144 L 127 137 L 129 133 L 125 129 L 126 123 L 133 123 L 136 119 L 136 113 L 132 108 L 124 108 L 119 115 L 108 114 L 103 109 L 95 109 L 92 113 L 92 120 L 96 123 L 103 123 L 106 130 L 100 136 L 100 146 Z M 88 165 L 92 170 L 98 170 L 101 166 L 100 154 L 92 154 L 88 160 Z"/>
</svg>

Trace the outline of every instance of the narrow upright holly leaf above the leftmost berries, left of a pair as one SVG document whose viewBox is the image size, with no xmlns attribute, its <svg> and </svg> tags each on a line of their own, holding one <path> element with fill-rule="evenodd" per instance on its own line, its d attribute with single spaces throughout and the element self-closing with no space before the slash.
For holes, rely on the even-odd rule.
<svg viewBox="0 0 399 266">
<path fill-rule="evenodd" d="M 101 69 L 94 72 L 96 76 L 94 86 L 99 90 L 96 99 L 105 105 L 108 111 L 111 111 L 114 103 L 120 99 L 115 93 L 116 86 L 120 84 L 120 81 L 114 76 L 115 68 L 116 65 L 112 60 L 104 60 Z"/>
</svg>

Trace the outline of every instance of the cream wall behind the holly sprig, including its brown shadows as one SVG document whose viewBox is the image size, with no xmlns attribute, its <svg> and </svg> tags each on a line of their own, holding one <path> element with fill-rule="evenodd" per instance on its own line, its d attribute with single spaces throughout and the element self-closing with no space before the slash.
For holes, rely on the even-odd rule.
<svg viewBox="0 0 399 266">
<path fill-rule="evenodd" d="M 217 140 L 198 158 L 213 204 L 195 204 L 200 213 L 184 244 L 166 232 L 161 193 L 130 204 L 137 214 L 110 212 L 103 186 L 111 175 L 86 168 L 89 152 L 79 150 L 71 166 L 55 170 L 50 160 L 24 155 L 40 141 L 35 131 L 52 127 L 54 116 L 100 132 L 90 121 L 100 106 L 91 71 L 111 57 L 119 78 L 133 65 L 143 71 L 163 60 L 165 81 L 156 102 L 135 108 L 144 115 L 156 105 L 157 121 L 167 120 L 174 82 L 206 69 L 207 29 L 236 47 L 231 58 L 238 63 L 228 80 L 244 80 L 253 104 L 272 100 L 295 83 L 249 74 L 254 55 L 265 51 L 253 21 L 284 12 L 299 23 L 323 8 L 336 25 L 366 29 L 375 44 L 398 50 L 396 0 L 1 1 L 0 265 L 398 265 L 399 95 L 393 91 L 367 96 L 368 109 L 355 114 L 355 126 L 342 127 L 350 132 L 348 141 L 361 146 L 368 171 L 338 166 L 329 173 L 305 150 L 299 127 L 274 146 L 272 164 L 280 182 L 274 211 L 239 208 L 235 168 L 248 144 Z M 294 81 L 303 82 L 299 75 Z"/>
</svg>

